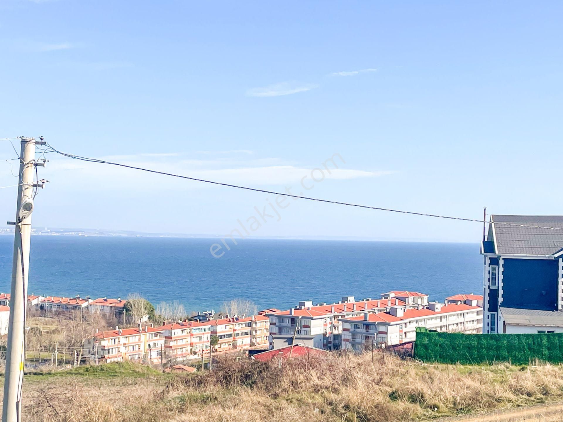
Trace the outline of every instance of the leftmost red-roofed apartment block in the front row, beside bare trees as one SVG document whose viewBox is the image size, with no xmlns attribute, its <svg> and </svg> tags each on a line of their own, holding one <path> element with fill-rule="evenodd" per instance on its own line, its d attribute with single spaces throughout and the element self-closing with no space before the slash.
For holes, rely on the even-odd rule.
<svg viewBox="0 0 563 422">
<path fill-rule="evenodd" d="M 91 363 L 126 360 L 160 363 L 164 348 L 164 330 L 151 326 L 101 331 L 84 340 L 84 356 Z"/>
</svg>

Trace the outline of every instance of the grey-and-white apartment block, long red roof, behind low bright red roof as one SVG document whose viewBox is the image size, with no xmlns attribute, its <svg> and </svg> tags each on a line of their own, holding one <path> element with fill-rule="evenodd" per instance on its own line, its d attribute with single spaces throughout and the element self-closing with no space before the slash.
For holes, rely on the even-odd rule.
<svg viewBox="0 0 563 422">
<path fill-rule="evenodd" d="M 340 319 L 358 315 L 360 312 L 381 312 L 392 306 L 404 307 L 397 298 L 370 298 L 356 301 L 353 296 L 345 296 L 341 302 L 312 306 L 310 300 L 301 301 L 296 308 L 269 313 L 270 348 L 274 347 L 276 335 L 299 334 L 314 336 L 313 345 L 319 349 L 338 349 L 342 343 L 342 324 Z"/>
</svg>

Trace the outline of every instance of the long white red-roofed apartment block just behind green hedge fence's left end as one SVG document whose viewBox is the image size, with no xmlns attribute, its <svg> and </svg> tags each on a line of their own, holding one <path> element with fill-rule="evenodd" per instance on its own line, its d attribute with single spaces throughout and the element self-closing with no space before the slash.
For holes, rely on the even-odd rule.
<svg viewBox="0 0 563 422">
<path fill-rule="evenodd" d="M 482 333 L 483 309 L 476 300 L 462 304 L 431 302 L 428 308 L 394 306 L 389 312 L 363 313 L 342 319 L 343 344 L 356 350 L 372 345 L 414 341 L 416 327 L 450 333 Z"/>
</svg>

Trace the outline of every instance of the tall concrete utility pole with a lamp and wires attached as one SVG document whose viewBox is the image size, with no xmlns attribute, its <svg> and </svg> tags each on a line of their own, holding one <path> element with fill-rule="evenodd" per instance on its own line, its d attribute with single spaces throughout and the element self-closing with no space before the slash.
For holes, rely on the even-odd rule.
<svg viewBox="0 0 563 422">
<path fill-rule="evenodd" d="M 12 289 L 10 322 L 4 380 L 2 422 L 21 420 L 21 386 L 24 381 L 25 312 L 28 294 L 29 243 L 32 234 L 33 173 L 35 140 L 21 139 L 20 177 L 17 188 L 17 208 L 14 260 L 12 261 Z"/>
</svg>

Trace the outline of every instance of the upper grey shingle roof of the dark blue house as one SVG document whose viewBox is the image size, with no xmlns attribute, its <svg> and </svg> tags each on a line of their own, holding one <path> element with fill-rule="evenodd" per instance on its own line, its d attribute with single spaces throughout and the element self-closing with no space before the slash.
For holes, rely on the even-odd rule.
<svg viewBox="0 0 563 422">
<path fill-rule="evenodd" d="M 563 216 L 493 215 L 491 221 L 563 229 Z M 498 254 L 552 255 L 563 249 L 563 230 L 502 224 L 495 224 L 494 229 Z"/>
</svg>

